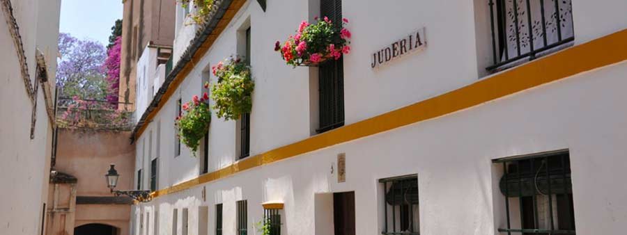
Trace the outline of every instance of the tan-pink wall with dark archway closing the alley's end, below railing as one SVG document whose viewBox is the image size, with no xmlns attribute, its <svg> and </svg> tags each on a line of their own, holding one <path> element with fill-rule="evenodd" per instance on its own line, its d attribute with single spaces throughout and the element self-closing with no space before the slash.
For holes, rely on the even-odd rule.
<svg viewBox="0 0 627 235">
<path fill-rule="evenodd" d="M 115 197 L 107 188 L 107 166 L 121 175 L 118 188 L 132 189 L 134 145 L 129 131 L 59 129 L 49 186 L 47 233 L 127 235 L 130 197 Z"/>
</svg>

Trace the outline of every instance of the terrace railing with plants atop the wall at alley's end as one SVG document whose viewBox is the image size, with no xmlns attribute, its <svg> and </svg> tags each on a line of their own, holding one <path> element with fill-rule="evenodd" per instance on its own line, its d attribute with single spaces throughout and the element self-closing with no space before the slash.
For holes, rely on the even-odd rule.
<svg viewBox="0 0 627 235">
<path fill-rule="evenodd" d="M 132 112 L 104 100 L 72 99 L 60 97 L 57 103 L 56 124 L 70 129 L 111 129 L 130 130 Z"/>
</svg>

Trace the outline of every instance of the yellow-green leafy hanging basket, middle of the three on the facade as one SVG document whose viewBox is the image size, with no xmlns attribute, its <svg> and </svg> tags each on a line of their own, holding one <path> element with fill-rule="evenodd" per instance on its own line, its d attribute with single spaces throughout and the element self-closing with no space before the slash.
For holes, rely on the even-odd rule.
<svg viewBox="0 0 627 235">
<path fill-rule="evenodd" d="M 241 59 L 229 58 L 212 67 L 218 77 L 217 83 L 211 87 L 211 99 L 217 110 L 218 117 L 226 120 L 237 120 L 240 115 L 250 113 L 252 108 L 252 92 L 255 84 L 251 79 L 250 67 Z"/>
</svg>

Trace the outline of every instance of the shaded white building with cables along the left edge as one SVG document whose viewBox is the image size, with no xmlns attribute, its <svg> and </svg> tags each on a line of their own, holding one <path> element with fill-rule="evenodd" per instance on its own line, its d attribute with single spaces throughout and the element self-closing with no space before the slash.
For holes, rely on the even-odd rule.
<svg viewBox="0 0 627 235">
<path fill-rule="evenodd" d="M 45 234 L 60 10 L 0 0 L 0 234 Z"/>
</svg>

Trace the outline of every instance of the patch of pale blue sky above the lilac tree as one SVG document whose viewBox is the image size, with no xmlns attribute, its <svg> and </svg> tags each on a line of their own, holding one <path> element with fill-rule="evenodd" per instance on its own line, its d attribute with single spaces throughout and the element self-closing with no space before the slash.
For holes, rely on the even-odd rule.
<svg viewBox="0 0 627 235">
<path fill-rule="evenodd" d="M 111 26 L 122 19 L 122 0 L 61 0 L 59 31 L 109 44 Z"/>
</svg>

